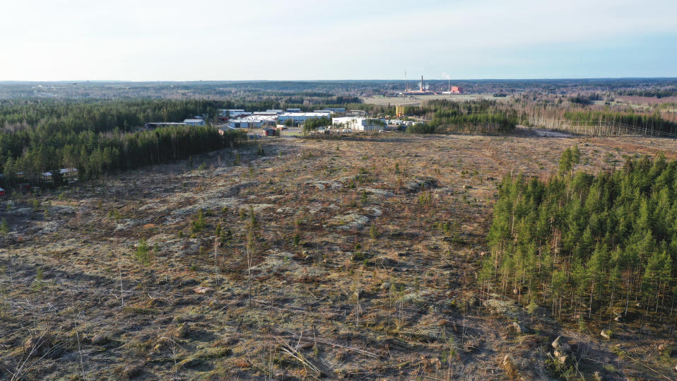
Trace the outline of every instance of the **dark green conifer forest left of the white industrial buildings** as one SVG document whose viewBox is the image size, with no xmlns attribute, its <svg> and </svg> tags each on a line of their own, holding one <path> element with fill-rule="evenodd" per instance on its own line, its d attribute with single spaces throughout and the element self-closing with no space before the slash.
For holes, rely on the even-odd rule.
<svg viewBox="0 0 677 381">
<path fill-rule="evenodd" d="M 240 134 L 212 127 L 132 131 L 155 121 L 216 115 L 225 102 L 211 100 L 45 101 L 0 103 L 0 173 L 6 187 L 41 182 L 43 172 L 78 168 L 88 179 L 163 163 L 237 143 Z M 21 175 L 17 175 L 22 172 Z"/>
</svg>

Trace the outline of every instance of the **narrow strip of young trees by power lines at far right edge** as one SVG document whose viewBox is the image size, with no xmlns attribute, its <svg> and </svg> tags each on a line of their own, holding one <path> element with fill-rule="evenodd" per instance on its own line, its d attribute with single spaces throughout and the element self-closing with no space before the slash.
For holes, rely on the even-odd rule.
<svg viewBox="0 0 677 381">
<path fill-rule="evenodd" d="M 648 115 L 628 112 L 579 110 L 567 111 L 564 113 L 564 117 L 567 120 L 590 126 L 595 124 L 621 123 L 628 127 L 646 129 L 647 131 L 677 134 L 677 122 L 666 120 L 657 113 Z"/>
</svg>

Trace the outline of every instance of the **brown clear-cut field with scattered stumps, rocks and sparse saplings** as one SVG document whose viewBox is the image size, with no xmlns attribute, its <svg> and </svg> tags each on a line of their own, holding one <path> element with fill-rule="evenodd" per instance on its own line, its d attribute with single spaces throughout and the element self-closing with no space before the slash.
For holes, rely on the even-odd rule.
<svg viewBox="0 0 677 381">
<path fill-rule="evenodd" d="M 603 341 L 548 306 L 480 303 L 502 175 L 546 177 L 576 144 L 589 172 L 677 158 L 675 140 L 522 129 L 290 138 L 1 201 L 0 379 L 542 380 L 558 335 L 584 377 L 674 378 L 670 324 Z"/>
</svg>

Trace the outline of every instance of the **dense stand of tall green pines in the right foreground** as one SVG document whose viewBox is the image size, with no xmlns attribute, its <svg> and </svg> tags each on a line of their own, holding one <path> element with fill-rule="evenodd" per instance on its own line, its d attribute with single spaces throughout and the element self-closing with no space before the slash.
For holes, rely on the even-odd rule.
<svg viewBox="0 0 677 381">
<path fill-rule="evenodd" d="M 479 277 L 485 295 L 610 325 L 629 310 L 672 316 L 677 161 L 628 160 L 593 176 L 572 171 L 578 160 L 577 148 L 567 149 L 546 181 L 504 177 Z"/>
</svg>

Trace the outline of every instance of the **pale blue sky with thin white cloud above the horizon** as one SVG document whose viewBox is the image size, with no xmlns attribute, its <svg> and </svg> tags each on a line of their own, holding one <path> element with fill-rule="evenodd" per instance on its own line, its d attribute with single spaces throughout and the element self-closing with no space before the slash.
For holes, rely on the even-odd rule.
<svg viewBox="0 0 677 381">
<path fill-rule="evenodd" d="M 677 77 L 677 0 L 0 1 L 0 81 Z"/>
</svg>

